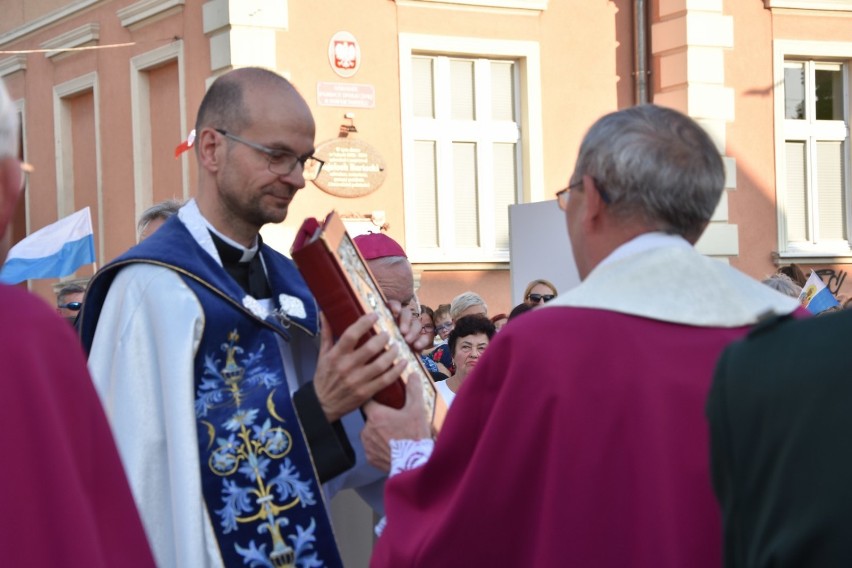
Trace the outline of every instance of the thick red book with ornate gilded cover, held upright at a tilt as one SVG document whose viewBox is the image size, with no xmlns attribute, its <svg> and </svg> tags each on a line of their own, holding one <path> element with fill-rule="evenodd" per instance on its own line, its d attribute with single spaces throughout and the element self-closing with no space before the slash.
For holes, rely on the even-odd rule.
<svg viewBox="0 0 852 568">
<path fill-rule="evenodd" d="M 379 321 L 370 335 L 362 341 L 386 331 L 391 341 L 399 345 L 400 357 L 408 359 L 409 363 L 403 371 L 402 380 L 407 380 L 415 373 L 421 377 L 424 399 L 433 417 L 433 427 L 439 430 L 446 413 L 443 399 L 437 395 L 432 378 L 420 358 L 405 342 L 372 272 L 346 233 L 337 213 L 330 213 L 322 225 L 316 219 L 306 219 L 296 235 L 291 253 L 331 325 L 335 340 L 362 315 L 370 312 L 379 315 Z M 405 385 L 402 380 L 386 387 L 373 398 L 382 404 L 402 408 L 405 404 Z"/>
</svg>

